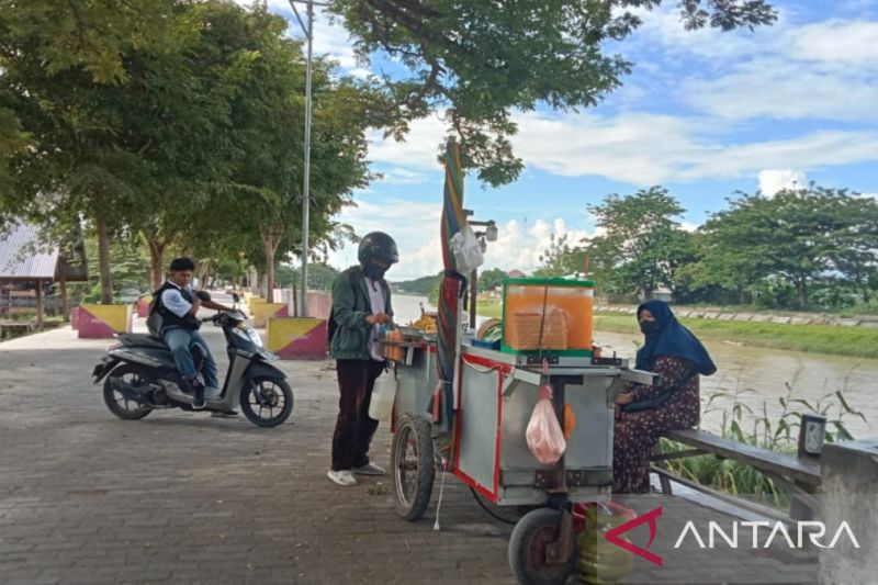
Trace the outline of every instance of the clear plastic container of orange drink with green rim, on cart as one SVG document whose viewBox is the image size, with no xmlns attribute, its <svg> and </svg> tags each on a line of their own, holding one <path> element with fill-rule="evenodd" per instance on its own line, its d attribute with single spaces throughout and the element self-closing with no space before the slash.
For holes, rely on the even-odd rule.
<svg viewBox="0 0 878 585">
<path fill-rule="evenodd" d="M 592 353 L 595 283 L 589 280 L 503 281 L 503 350 Z M 540 340 L 542 328 L 542 340 Z"/>
</svg>

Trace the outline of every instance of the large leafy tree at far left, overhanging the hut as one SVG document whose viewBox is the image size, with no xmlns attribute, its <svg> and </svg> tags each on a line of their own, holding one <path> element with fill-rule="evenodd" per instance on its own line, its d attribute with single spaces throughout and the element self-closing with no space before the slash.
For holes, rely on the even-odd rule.
<svg viewBox="0 0 878 585">
<path fill-rule="evenodd" d="M 9 120 L 0 153 L 12 155 L 2 165 L 15 178 L 3 207 L 60 230 L 80 214 L 91 218 L 106 303 L 110 236 L 123 229 L 133 184 L 145 177 L 137 156 L 144 145 L 120 148 L 124 127 L 108 92 L 127 82 L 127 54 L 165 45 L 171 12 L 169 0 L 0 2 L 0 112 Z M 25 137 L 27 148 L 15 148 Z"/>
</svg>

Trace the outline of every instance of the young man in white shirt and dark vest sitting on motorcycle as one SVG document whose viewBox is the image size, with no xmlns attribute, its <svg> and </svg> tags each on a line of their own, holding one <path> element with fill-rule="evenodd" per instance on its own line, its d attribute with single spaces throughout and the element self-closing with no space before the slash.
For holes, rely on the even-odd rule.
<svg viewBox="0 0 878 585">
<path fill-rule="evenodd" d="M 207 395 L 219 393 L 216 361 L 204 338 L 199 334 L 201 323 L 195 315 L 199 308 L 215 311 L 235 311 L 232 307 L 214 303 L 205 291 L 194 291 L 190 284 L 195 262 L 191 258 L 176 258 L 171 262 L 170 278 L 154 294 L 150 316 L 158 314 L 161 326 L 157 333 L 165 345 L 170 348 L 173 361 L 180 371 L 180 378 L 192 392 L 192 408 L 204 408 L 205 392 Z M 192 349 L 199 346 L 203 356 L 202 373 L 204 384 L 199 380 Z M 205 387 L 206 386 L 206 387 Z"/>
</svg>

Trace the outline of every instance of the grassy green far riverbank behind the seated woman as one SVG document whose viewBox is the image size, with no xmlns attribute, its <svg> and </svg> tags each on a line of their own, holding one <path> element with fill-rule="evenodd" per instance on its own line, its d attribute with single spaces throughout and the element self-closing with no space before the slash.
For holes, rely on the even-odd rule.
<svg viewBox="0 0 878 585">
<path fill-rule="evenodd" d="M 791 349 L 878 359 L 878 329 L 834 325 L 785 325 L 680 318 L 702 339 L 731 341 L 751 347 Z M 640 336 L 633 315 L 599 314 L 595 330 Z"/>
</svg>

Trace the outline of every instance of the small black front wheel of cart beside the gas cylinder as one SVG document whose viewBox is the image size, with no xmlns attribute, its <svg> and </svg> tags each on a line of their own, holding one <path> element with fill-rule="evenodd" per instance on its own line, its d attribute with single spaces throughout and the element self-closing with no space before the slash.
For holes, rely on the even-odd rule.
<svg viewBox="0 0 878 585">
<path fill-rule="evenodd" d="M 576 554 L 562 563 L 547 562 L 547 544 L 555 542 L 561 513 L 553 508 L 529 511 L 513 529 L 509 538 L 509 567 L 522 585 L 556 585 L 567 581 L 576 564 Z M 575 550 L 575 548 L 574 548 Z"/>
</svg>

